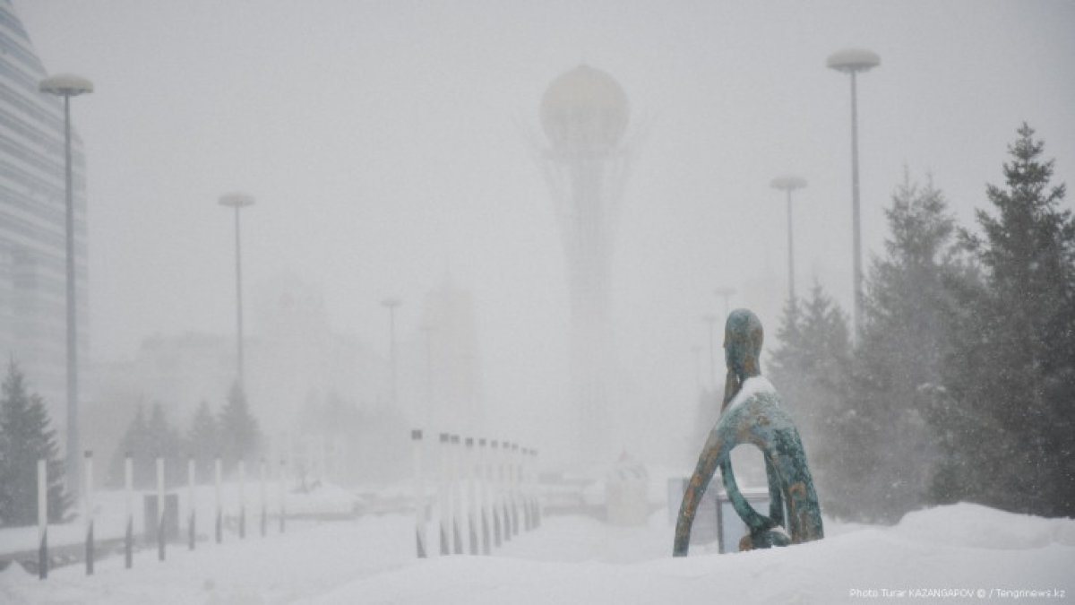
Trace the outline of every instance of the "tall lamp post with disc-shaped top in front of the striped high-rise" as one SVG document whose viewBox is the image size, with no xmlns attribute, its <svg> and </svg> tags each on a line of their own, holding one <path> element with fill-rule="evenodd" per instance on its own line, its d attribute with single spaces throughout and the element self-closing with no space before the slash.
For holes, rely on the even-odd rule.
<svg viewBox="0 0 1075 605">
<path fill-rule="evenodd" d="M 57 74 L 42 80 L 42 93 L 63 97 L 63 160 L 67 230 L 67 481 L 68 491 L 78 493 L 78 323 L 74 270 L 74 187 L 71 178 L 71 97 L 94 92 L 94 83 L 81 75 Z"/>
</svg>

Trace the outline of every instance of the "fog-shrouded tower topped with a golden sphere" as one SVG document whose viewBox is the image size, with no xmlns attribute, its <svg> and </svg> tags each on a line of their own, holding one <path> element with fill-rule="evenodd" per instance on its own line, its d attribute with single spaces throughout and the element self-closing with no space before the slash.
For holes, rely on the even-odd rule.
<svg viewBox="0 0 1075 605">
<path fill-rule="evenodd" d="M 628 167 L 629 107 L 611 75 L 586 65 L 555 79 L 541 103 L 548 144 L 541 164 L 560 223 L 571 305 L 571 404 L 580 462 L 612 453 L 611 273 L 618 202 Z"/>
</svg>

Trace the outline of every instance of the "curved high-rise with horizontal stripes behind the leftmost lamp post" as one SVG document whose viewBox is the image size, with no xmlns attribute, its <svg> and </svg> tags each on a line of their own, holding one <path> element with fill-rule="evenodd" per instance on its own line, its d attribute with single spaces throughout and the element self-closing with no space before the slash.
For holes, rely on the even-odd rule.
<svg viewBox="0 0 1075 605">
<path fill-rule="evenodd" d="M 10 0 L 0 0 L 0 355 L 14 357 L 63 430 L 67 400 L 63 107 Z M 89 326 L 86 158 L 72 132 L 80 365 Z"/>
</svg>

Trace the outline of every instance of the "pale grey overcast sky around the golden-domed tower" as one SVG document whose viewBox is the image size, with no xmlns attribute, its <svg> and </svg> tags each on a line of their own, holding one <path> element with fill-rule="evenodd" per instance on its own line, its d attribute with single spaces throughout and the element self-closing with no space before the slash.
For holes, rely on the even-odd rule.
<svg viewBox="0 0 1075 605">
<path fill-rule="evenodd" d="M 532 409 L 562 382 L 563 259 L 528 138 L 548 83 L 582 61 L 624 86 L 639 145 L 616 239 L 619 364 L 648 409 L 692 405 L 700 316 L 741 293 L 769 334 L 798 283 L 850 300 L 849 86 L 825 67 L 877 52 L 859 81 L 863 241 L 904 165 L 964 225 L 1002 183 L 1028 121 L 1075 174 L 1075 2 L 16 0 L 52 72 L 91 79 L 86 142 L 92 355 L 152 334 L 233 330 L 232 221 L 247 292 L 290 272 L 341 330 L 387 347 L 378 300 L 448 270 L 475 296 L 487 398 Z M 1071 200 L 1065 202 L 1072 206 Z M 257 332 L 256 324 L 248 330 Z M 772 343 L 772 340 L 770 341 Z M 520 392 L 522 394 L 520 394 Z M 527 400 L 532 399 L 532 400 Z"/>
</svg>

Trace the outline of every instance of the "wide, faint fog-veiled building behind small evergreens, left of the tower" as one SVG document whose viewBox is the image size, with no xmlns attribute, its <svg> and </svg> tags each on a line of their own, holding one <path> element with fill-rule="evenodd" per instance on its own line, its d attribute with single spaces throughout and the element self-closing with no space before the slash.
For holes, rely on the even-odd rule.
<svg viewBox="0 0 1075 605">
<path fill-rule="evenodd" d="M 309 406 L 329 399 L 360 410 L 384 405 L 385 358 L 357 336 L 331 329 L 320 291 L 298 279 L 276 278 L 257 285 L 252 298 L 255 332 L 245 342 L 246 394 L 268 447 L 285 448 Z M 227 335 L 148 337 L 131 363 L 99 368 L 99 409 L 113 412 L 111 425 L 123 431 L 139 404 L 159 402 L 169 422 L 185 432 L 201 402 L 215 411 L 224 406 L 235 380 L 234 347 Z M 104 447 L 116 431 L 92 425 L 87 433 L 88 442 Z"/>
</svg>

